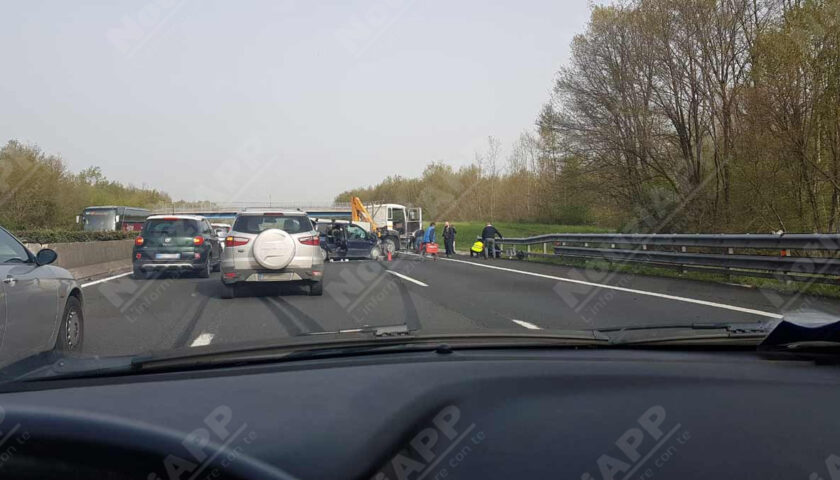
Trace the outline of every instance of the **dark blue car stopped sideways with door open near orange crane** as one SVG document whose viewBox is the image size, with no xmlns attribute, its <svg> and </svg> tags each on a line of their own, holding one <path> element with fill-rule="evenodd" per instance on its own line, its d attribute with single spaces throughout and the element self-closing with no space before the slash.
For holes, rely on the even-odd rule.
<svg viewBox="0 0 840 480">
<path fill-rule="evenodd" d="M 318 220 L 321 257 L 327 259 L 382 258 L 382 242 L 368 228 L 346 220 Z"/>
</svg>

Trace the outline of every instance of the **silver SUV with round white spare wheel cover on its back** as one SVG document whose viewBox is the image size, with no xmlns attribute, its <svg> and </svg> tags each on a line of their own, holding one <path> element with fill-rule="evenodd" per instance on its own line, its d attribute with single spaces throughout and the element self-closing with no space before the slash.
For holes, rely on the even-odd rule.
<svg viewBox="0 0 840 480">
<path fill-rule="evenodd" d="M 246 211 L 236 216 L 222 253 L 224 298 L 248 283 L 292 282 L 323 293 L 320 237 L 300 211 Z"/>
</svg>

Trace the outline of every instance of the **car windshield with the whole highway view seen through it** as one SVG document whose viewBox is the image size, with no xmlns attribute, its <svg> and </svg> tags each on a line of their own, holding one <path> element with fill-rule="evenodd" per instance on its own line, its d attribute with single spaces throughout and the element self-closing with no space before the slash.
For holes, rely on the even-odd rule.
<svg viewBox="0 0 840 480">
<path fill-rule="evenodd" d="M 837 0 L 5 3 L 0 382 L 840 319 Z"/>
</svg>

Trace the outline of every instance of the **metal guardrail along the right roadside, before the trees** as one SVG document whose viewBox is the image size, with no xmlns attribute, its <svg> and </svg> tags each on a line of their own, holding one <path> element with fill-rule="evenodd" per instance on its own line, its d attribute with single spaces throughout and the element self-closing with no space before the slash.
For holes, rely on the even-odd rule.
<svg viewBox="0 0 840 480">
<path fill-rule="evenodd" d="M 511 257 L 602 259 L 771 277 L 840 283 L 840 235 L 835 234 L 551 234 L 497 240 Z M 531 247 L 542 245 L 542 253 Z M 549 253 L 551 245 L 551 253 Z M 516 247 L 526 247 L 523 251 Z M 807 253 L 807 255 L 806 255 Z"/>
</svg>

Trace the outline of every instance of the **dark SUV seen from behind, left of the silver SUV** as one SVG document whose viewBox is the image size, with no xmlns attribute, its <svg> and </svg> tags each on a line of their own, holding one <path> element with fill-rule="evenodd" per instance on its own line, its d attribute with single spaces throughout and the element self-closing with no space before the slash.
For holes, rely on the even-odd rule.
<svg viewBox="0 0 840 480">
<path fill-rule="evenodd" d="M 218 271 L 221 243 L 210 222 L 194 215 L 155 215 L 134 241 L 134 277 L 161 270 L 193 271 L 207 278 Z"/>
</svg>

